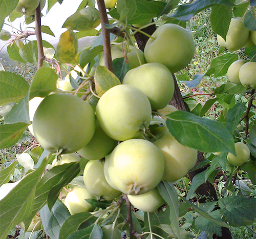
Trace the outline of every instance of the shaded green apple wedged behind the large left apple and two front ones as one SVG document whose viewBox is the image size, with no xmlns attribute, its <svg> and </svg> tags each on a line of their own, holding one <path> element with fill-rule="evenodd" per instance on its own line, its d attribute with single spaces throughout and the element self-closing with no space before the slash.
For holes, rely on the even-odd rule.
<svg viewBox="0 0 256 239">
<path fill-rule="evenodd" d="M 87 145 L 79 149 L 77 153 L 89 160 L 102 159 L 111 153 L 117 143 L 118 141 L 104 133 L 98 121 L 96 121 L 96 129 L 93 138 Z"/>
</svg>

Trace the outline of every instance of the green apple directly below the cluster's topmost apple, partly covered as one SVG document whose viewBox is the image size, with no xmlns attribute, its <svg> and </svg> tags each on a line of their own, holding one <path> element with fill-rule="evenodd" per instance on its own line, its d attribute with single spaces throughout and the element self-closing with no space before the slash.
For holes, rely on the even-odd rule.
<svg viewBox="0 0 256 239">
<path fill-rule="evenodd" d="M 146 63 L 128 71 L 123 84 L 141 90 L 150 100 L 152 110 L 165 107 L 174 95 L 173 75 L 161 63 Z"/>
</svg>

